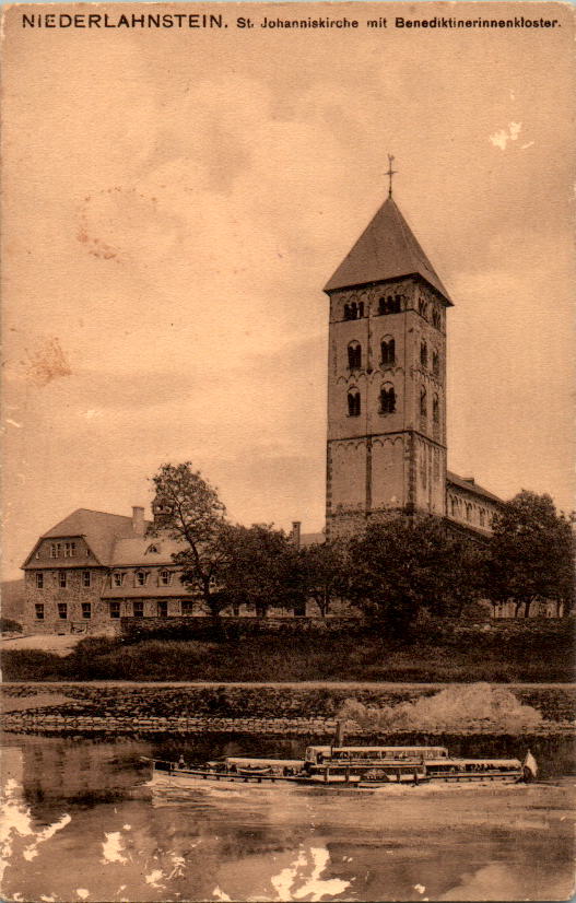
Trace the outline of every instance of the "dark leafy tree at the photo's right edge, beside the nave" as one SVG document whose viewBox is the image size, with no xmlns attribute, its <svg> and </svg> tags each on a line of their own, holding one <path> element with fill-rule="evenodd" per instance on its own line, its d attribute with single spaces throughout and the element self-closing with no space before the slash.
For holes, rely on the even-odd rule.
<svg viewBox="0 0 576 903">
<path fill-rule="evenodd" d="M 490 594 L 513 599 L 526 618 L 537 599 L 553 599 L 556 610 L 574 606 L 573 517 L 557 514 L 550 495 L 522 490 L 496 515 L 490 542 Z"/>
</svg>

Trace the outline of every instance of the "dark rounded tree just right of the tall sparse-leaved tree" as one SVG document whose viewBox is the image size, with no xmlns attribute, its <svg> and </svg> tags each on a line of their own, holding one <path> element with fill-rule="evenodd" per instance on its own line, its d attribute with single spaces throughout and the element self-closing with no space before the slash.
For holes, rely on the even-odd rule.
<svg viewBox="0 0 576 903">
<path fill-rule="evenodd" d="M 219 593 L 237 612 L 242 605 L 258 615 L 268 609 L 295 609 L 305 601 L 297 550 L 283 530 L 271 525 L 226 525 L 219 540 Z"/>
</svg>

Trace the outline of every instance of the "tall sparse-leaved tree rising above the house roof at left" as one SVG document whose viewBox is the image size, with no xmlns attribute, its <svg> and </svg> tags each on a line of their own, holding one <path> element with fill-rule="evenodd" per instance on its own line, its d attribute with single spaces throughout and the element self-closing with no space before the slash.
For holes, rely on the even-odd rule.
<svg viewBox="0 0 576 903">
<path fill-rule="evenodd" d="M 163 465 L 152 482 L 156 490 L 156 531 L 181 542 L 183 550 L 173 555 L 174 563 L 183 568 L 180 579 L 189 590 L 200 590 L 208 611 L 216 618 L 226 605 L 218 584 L 223 566 L 225 507 L 216 490 L 199 470 L 192 470 L 190 461 Z"/>
</svg>

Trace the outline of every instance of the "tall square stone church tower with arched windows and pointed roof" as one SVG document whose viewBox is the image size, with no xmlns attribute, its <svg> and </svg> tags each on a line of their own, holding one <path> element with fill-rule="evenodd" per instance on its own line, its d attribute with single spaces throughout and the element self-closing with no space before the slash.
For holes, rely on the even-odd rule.
<svg viewBox="0 0 576 903">
<path fill-rule="evenodd" d="M 452 304 L 391 184 L 325 292 L 328 538 L 401 511 L 444 516 L 446 310 Z"/>
</svg>

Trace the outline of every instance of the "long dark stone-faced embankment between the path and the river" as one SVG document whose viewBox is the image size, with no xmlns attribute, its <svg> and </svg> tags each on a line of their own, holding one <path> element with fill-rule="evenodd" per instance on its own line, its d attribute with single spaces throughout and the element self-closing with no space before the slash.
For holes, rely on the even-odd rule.
<svg viewBox="0 0 576 903">
<path fill-rule="evenodd" d="M 454 685 L 454 684 L 451 684 Z M 569 731 L 576 688 L 568 684 L 499 684 L 518 702 L 541 712 L 538 730 Z M 1 688 L 5 730 L 130 732 L 248 731 L 333 732 L 346 700 L 395 706 L 431 696 L 446 684 L 130 684 L 5 683 Z M 487 690 L 486 690 L 487 692 Z M 473 723 L 473 732 L 494 726 Z M 465 729 L 468 729 L 465 726 Z"/>
</svg>

